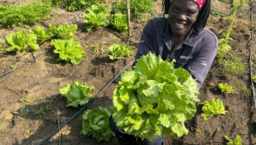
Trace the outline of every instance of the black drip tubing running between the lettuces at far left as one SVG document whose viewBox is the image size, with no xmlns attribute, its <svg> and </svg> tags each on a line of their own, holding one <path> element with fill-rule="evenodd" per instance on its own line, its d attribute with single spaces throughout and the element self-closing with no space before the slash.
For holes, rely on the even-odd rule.
<svg viewBox="0 0 256 145">
<path fill-rule="evenodd" d="M 83 29 L 81 29 L 81 30 L 79 30 L 79 31 L 76 31 L 76 33 L 74 33 L 74 35 L 76 35 L 76 34 L 78 34 L 78 33 L 82 32 L 82 31 L 83 31 Z M 93 32 L 93 31 L 95 31 L 95 29 L 94 29 L 94 30 L 92 30 L 92 31 L 90 31 L 90 32 Z M 89 33 L 90 33 L 90 32 L 89 32 Z M 40 45 L 40 44 L 39 44 L 39 45 Z M 50 51 L 52 48 L 54 48 L 54 47 L 51 47 L 50 49 L 47 49 L 47 50 L 46 50 L 46 51 L 44 51 L 43 53 L 38 54 L 37 56 L 35 56 L 35 58 L 38 58 L 39 56 L 41 56 L 41 55 L 45 54 L 46 52 Z M 28 53 L 26 53 L 26 54 L 28 54 Z M 26 54 L 24 54 L 24 55 L 26 55 Z M 22 55 L 22 56 L 24 56 L 24 55 Z M 20 56 L 20 57 L 22 57 L 22 56 Z M 19 58 L 20 58 L 20 57 L 19 57 Z M 16 59 L 15 59 L 14 61 L 12 61 L 11 63 L 15 62 L 17 59 L 18 59 L 18 58 L 16 58 Z M 0 78 L 1 78 L 1 77 L 3 77 L 3 76 L 5 76 L 6 74 L 9 74 L 9 73 L 11 73 L 11 72 L 13 72 L 13 71 L 15 71 L 15 70 L 19 69 L 20 67 L 23 67 L 24 65 L 26 65 L 26 64 L 28 64 L 28 63 L 30 63 L 32 60 L 33 60 L 33 59 L 28 60 L 28 61 L 26 61 L 26 62 L 22 63 L 21 65 L 19 65 L 19 66 L 15 67 L 15 69 L 12 69 L 12 70 L 7 71 L 7 72 L 5 72 L 5 73 L 3 73 L 3 74 L 0 74 Z M 11 63 L 10 63 L 10 64 L 11 64 Z M 10 65 L 10 64 L 9 64 L 9 65 Z M 7 66 L 9 66 L 9 65 L 7 65 Z M 6 66 L 6 67 L 7 67 L 7 66 Z M 6 69 L 5 69 L 5 70 L 6 70 Z"/>
</svg>

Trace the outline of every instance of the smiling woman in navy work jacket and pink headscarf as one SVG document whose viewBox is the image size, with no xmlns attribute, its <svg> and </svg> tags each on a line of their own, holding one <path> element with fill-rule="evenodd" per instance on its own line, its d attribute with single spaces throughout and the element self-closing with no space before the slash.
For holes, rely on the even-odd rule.
<svg viewBox="0 0 256 145">
<path fill-rule="evenodd" d="M 149 51 L 163 60 L 175 59 L 175 68 L 189 71 L 199 89 L 218 49 L 217 37 L 205 28 L 210 6 L 211 0 L 163 0 L 163 18 L 152 19 L 144 27 L 135 60 Z M 112 116 L 109 124 L 121 145 L 164 145 L 161 136 L 148 141 L 128 134 Z"/>
</svg>

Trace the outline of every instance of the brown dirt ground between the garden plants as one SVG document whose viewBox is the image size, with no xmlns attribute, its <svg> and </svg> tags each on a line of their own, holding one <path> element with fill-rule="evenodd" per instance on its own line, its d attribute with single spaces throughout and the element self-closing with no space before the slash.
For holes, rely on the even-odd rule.
<svg viewBox="0 0 256 145">
<path fill-rule="evenodd" d="M 11 0 L 9 2 L 15 2 Z M 17 0 L 16 0 L 17 2 Z M 161 1 L 155 2 L 156 10 L 154 15 L 149 15 L 147 18 L 162 16 Z M 110 5 L 110 2 L 107 3 Z M 230 6 L 227 0 L 218 1 L 212 0 L 212 9 L 214 11 L 222 11 L 225 14 L 230 13 Z M 186 122 L 186 127 L 189 129 L 189 134 L 182 138 L 165 138 L 166 145 L 183 145 L 183 144 L 202 144 L 213 134 L 217 127 L 220 127 L 219 132 L 215 135 L 214 140 L 224 141 L 223 136 L 227 135 L 234 139 L 236 134 L 242 138 L 243 144 L 248 145 L 256 142 L 255 129 L 255 112 L 253 110 L 252 97 L 245 96 L 239 88 L 236 88 L 236 81 L 251 89 L 250 74 L 249 74 L 249 47 L 250 47 L 250 22 L 249 22 L 249 5 L 246 9 L 238 14 L 238 19 L 234 22 L 231 37 L 234 39 L 230 42 L 233 50 L 231 54 L 238 54 L 246 66 L 244 72 L 238 75 L 222 76 L 221 70 L 218 67 L 217 60 L 214 60 L 213 65 L 208 73 L 208 76 L 200 89 L 200 100 L 210 101 L 213 98 L 223 100 L 224 106 L 228 113 L 203 120 L 200 117 L 202 106 L 197 105 L 197 114 L 192 120 Z M 110 9 L 110 8 L 109 8 Z M 85 27 L 83 22 L 82 12 L 67 12 L 62 9 L 54 10 L 52 15 L 56 17 L 39 22 L 36 25 L 47 27 L 49 24 L 78 24 L 78 30 Z M 254 18 L 256 19 L 256 18 Z M 100 52 L 93 52 L 92 47 L 100 44 L 100 51 L 108 50 L 109 45 L 113 43 L 128 44 L 132 51 L 136 53 L 139 38 L 143 27 L 148 20 L 132 19 L 132 38 L 127 39 L 126 34 L 119 34 L 115 29 L 106 27 L 98 29 L 93 33 L 86 34 L 85 31 L 76 35 L 76 41 L 79 41 L 87 55 L 83 57 L 79 65 L 71 63 L 56 62 L 58 55 L 53 53 L 53 50 L 37 58 L 36 62 L 31 62 L 24 67 L 7 74 L 0 78 L 0 144 L 6 145 L 35 145 L 53 130 L 58 128 L 56 111 L 62 112 L 60 115 L 60 123 L 66 121 L 70 116 L 75 114 L 78 109 L 66 107 L 66 100 L 62 98 L 58 90 L 66 83 L 73 81 L 86 81 L 88 85 L 94 85 L 93 94 L 96 95 L 104 85 L 113 78 L 119 70 L 128 64 L 135 56 L 122 58 L 121 60 L 112 61 L 108 59 L 107 53 L 101 55 Z M 211 29 L 218 38 L 221 33 L 227 29 L 230 20 L 226 18 L 216 18 L 210 16 L 207 27 Z M 20 31 L 23 27 L 2 28 L 0 30 L 0 44 L 4 44 L 4 38 L 8 33 Z M 25 29 L 28 31 L 29 29 Z M 256 33 L 254 29 L 254 33 Z M 86 34 L 86 35 L 85 35 Z M 85 48 L 86 46 L 89 46 Z M 48 42 L 41 45 L 40 49 L 35 54 L 39 54 L 50 48 Z M 23 53 L 17 54 L 20 56 Z M 3 73 L 6 65 L 11 60 L 16 58 L 15 53 L 3 52 L 0 54 L 0 72 Z M 30 55 L 23 57 L 19 62 L 13 65 L 20 65 L 22 62 L 31 59 Z M 256 56 L 253 51 L 253 72 L 255 74 Z M 129 67 L 131 68 L 131 67 Z M 10 68 L 7 68 L 8 70 Z M 94 107 L 111 107 L 113 90 L 117 81 L 114 81 L 91 105 L 89 109 Z M 231 85 L 235 93 L 223 94 L 217 88 L 218 83 L 228 83 Z M 35 99 L 29 105 L 26 100 Z M 33 115 L 33 111 L 44 109 L 45 114 Z M 27 110 L 24 114 L 16 114 Z M 24 119 L 23 119 L 24 118 Z M 65 125 L 61 132 L 71 131 L 68 135 L 63 135 L 61 138 L 62 145 L 117 145 L 117 139 L 111 138 L 110 141 L 102 141 L 98 143 L 96 139 L 91 137 L 81 137 L 79 135 L 82 129 L 82 113 L 74 120 Z M 58 144 L 58 134 L 55 134 L 47 141 L 46 145 Z M 219 143 L 221 145 L 221 143 Z"/>
</svg>

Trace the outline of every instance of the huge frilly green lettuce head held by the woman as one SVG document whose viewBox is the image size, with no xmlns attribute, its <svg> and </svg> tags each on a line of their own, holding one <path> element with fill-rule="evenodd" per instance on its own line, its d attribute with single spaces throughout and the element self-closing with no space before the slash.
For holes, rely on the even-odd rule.
<svg viewBox="0 0 256 145">
<path fill-rule="evenodd" d="M 113 119 L 129 134 L 152 140 L 154 134 L 186 135 L 184 122 L 196 112 L 199 101 L 196 80 L 188 71 L 174 69 L 152 53 L 141 56 L 128 70 L 113 94 Z"/>
</svg>

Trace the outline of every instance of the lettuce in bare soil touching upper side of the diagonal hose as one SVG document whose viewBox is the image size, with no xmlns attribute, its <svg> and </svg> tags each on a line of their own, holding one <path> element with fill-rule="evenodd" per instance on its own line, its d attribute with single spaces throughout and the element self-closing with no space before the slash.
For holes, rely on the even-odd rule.
<svg viewBox="0 0 256 145">
<path fill-rule="evenodd" d="M 61 96 L 67 98 L 68 105 L 72 107 L 78 107 L 78 105 L 85 105 L 94 98 L 91 94 L 93 86 L 87 86 L 87 82 L 67 83 L 62 89 L 59 89 Z"/>
</svg>

